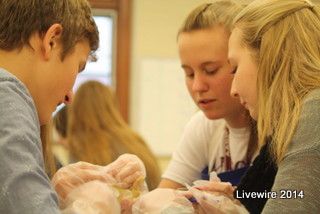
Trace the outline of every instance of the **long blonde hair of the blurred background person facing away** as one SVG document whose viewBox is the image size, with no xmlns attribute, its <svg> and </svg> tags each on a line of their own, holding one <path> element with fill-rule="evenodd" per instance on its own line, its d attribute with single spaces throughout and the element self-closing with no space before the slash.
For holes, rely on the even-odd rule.
<svg viewBox="0 0 320 214">
<path fill-rule="evenodd" d="M 146 142 L 121 117 L 111 89 L 98 81 L 83 83 L 68 107 L 67 139 L 76 160 L 107 165 L 123 153 L 145 164 L 150 189 L 160 181 L 160 168 Z"/>
</svg>

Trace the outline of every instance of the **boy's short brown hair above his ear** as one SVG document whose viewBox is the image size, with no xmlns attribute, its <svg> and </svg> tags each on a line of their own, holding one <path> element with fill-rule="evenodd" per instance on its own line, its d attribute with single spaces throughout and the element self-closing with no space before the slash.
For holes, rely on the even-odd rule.
<svg viewBox="0 0 320 214">
<path fill-rule="evenodd" d="M 0 0 L 0 49 L 21 49 L 34 33 L 43 35 L 53 24 L 61 24 L 61 59 L 76 43 L 88 39 L 93 52 L 99 33 L 87 0 Z"/>
</svg>

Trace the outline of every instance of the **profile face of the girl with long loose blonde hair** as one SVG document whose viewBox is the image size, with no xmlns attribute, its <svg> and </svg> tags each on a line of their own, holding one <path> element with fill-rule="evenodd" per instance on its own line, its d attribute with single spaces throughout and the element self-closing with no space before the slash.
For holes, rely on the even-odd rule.
<svg viewBox="0 0 320 214">
<path fill-rule="evenodd" d="M 235 28 L 229 39 L 229 62 L 235 67 L 231 95 L 250 111 L 253 119 L 258 118 L 258 65 L 253 52 L 240 45 L 241 31 Z"/>
</svg>

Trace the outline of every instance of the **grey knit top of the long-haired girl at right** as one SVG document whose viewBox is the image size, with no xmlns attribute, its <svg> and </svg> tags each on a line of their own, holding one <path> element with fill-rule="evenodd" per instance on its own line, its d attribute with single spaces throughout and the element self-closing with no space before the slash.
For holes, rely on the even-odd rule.
<svg viewBox="0 0 320 214">
<path fill-rule="evenodd" d="M 304 102 L 272 191 L 277 198 L 267 201 L 264 214 L 320 213 L 320 89 L 312 91 Z"/>
</svg>

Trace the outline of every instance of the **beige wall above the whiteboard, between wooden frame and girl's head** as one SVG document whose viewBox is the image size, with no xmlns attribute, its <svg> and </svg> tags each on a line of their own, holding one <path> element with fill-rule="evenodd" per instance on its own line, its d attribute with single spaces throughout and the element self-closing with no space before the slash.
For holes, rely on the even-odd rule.
<svg viewBox="0 0 320 214">
<path fill-rule="evenodd" d="M 176 34 L 187 14 L 208 0 L 133 0 L 133 56 L 176 57 Z M 239 0 L 248 2 L 248 0 Z"/>
</svg>

